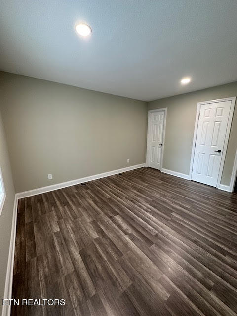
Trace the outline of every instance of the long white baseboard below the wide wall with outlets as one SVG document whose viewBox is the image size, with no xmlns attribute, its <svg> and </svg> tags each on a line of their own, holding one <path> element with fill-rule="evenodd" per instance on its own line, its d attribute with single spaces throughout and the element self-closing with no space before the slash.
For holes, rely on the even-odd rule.
<svg viewBox="0 0 237 316">
<path fill-rule="evenodd" d="M 130 170 L 134 170 L 134 169 L 138 169 L 138 168 L 142 168 L 142 167 L 145 167 L 145 166 L 146 166 L 145 163 L 136 164 L 134 166 L 125 167 L 125 168 L 112 170 L 112 171 L 108 171 L 108 172 L 103 172 L 103 173 L 95 174 L 95 175 L 89 176 L 89 177 L 84 177 L 84 178 L 80 178 L 80 179 L 76 179 L 76 180 L 71 180 L 71 181 L 67 181 L 67 182 L 57 183 L 57 184 L 53 184 L 51 186 L 46 186 L 46 187 L 42 187 L 42 188 L 38 188 L 38 189 L 34 189 L 34 190 L 25 191 L 25 192 L 19 192 L 19 193 L 16 194 L 16 196 L 17 196 L 18 199 L 19 198 L 23 198 L 23 197 L 31 197 L 31 196 L 35 196 L 37 194 L 41 194 L 41 193 L 45 193 L 45 192 L 49 192 L 49 191 L 54 191 L 54 190 L 58 190 L 58 189 L 63 189 L 63 188 L 66 188 L 66 187 L 73 186 L 75 184 L 84 183 L 84 182 L 88 182 L 88 181 L 92 181 L 92 180 L 96 180 L 96 179 L 112 176 L 114 174 L 130 171 Z"/>
</svg>

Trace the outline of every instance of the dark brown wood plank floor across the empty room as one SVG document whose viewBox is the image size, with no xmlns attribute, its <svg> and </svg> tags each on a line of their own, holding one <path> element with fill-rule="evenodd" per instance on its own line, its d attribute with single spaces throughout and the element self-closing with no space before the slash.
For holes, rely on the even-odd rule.
<svg viewBox="0 0 237 316">
<path fill-rule="evenodd" d="M 19 200 L 13 316 L 237 315 L 237 194 L 151 168 Z"/>
</svg>

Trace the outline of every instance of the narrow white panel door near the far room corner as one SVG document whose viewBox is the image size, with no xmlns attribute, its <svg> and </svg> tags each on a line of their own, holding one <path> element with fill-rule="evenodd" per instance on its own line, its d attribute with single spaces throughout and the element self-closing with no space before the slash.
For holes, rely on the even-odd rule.
<svg viewBox="0 0 237 316">
<path fill-rule="evenodd" d="M 164 131 L 164 110 L 150 112 L 148 120 L 148 167 L 160 170 L 163 131 Z"/>
</svg>

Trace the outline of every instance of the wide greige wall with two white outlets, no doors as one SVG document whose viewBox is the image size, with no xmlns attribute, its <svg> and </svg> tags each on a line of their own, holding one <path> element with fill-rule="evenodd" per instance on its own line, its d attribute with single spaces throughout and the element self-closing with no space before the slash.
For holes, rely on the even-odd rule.
<svg viewBox="0 0 237 316">
<path fill-rule="evenodd" d="M 0 81 L 16 192 L 145 162 L 146 102 L 4 72 Z"/>
</svg>

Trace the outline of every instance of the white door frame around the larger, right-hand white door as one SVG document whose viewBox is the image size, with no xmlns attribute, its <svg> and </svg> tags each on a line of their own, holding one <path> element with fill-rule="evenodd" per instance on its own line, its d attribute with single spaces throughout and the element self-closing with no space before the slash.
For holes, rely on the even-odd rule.
<svg viewBox="0 0 237 316">
<path fill-rule="evenodd" d="M 194 127 L 194 138 L 193 138 L 193 146 L 192 146 L 192 154 L 191 154 L 190 170 L 189 170 L 189 178 L 191 180 L 192 179 L 193 164 L 194 164 L 195 144 L 196 144 L 196 138 L 197 138 L 197 127 L 198 127 L 201 105 L 217 103 L 217 102 L 224 102 L 224 101 L 231 101 L 231 108 L 230 108 L 230 113 L 229 113 L 229 118 L 228 118 L 228 123 L 227 123 L 226 136 L 225 136 L 223 152 L 222 152 L 222 157 L 221 157 L 221 164 L 220 164 L 219 174 L 218 174 L 218 178 L 217 178 L 217 185 L 216 185 L 217 189 L 220 189 L 221 177 L 222 177 L 224 162 L 225 162 L 225 158 L 226 158 L 226 151 L 227 151 L 227 145 L 228 145 L 230 131 L 231 131 L 231 123 L 232 123 L 232 118 L 233 118 L 233 114 L 234 114 L 236 97 L 202 101 L 202 102 L 197 103 L 197 112 L 196 112 L 196 120 L 195 120 L 195 127 Z"/>
</svg>

